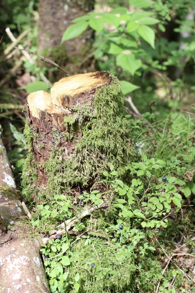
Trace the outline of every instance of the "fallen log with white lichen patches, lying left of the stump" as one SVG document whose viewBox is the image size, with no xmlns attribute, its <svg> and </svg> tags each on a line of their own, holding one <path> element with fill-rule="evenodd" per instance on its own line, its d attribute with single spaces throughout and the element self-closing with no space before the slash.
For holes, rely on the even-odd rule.
<svg viewBox="0 0 195 293">
<path fill-rule="evenodd" d="M 0 292 L 50 292 L 40 244 L 28 239 L 28 223 L 1 138 L 0 150 Z"/>
</svg>

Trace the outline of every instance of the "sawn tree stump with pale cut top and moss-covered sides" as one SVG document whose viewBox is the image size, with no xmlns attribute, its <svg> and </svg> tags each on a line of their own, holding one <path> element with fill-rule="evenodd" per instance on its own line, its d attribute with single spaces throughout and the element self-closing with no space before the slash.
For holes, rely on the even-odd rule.
<svg viewBox="0 0 195 293">
<path fill-rule="evenodd" d="M 123 175 L 134 153 L 123 103 L 119 81 L 104 71 L 63 78 L 51 93 L 31 93 L 23 184 L 67 193 L 78 184 L 91 187 L 111 164 Z"/>
</svg>

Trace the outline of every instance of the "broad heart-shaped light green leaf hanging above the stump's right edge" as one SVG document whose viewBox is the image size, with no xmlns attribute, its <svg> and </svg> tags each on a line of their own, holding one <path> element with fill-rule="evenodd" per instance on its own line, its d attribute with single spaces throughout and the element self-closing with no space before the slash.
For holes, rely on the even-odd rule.
<svg viewBox="0 0 195 293">
<path fill-rule="evenodd" d="M 116 58 L 117 66 L 128 70 L 132 75 L 141 67 L 141 60 L 136 59 L 134 54 L 119 54 Z"/>
</svg>

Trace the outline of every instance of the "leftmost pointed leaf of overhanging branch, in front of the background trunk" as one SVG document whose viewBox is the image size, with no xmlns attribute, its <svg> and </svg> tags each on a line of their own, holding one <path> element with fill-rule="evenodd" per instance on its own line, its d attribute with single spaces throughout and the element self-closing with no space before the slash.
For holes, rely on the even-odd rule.
<svg viewBox="0 0 195 293">
<path fill-rule="evenodd" d="M 61 38 L 61 44 L 66 40 L 70 40 L 70 39 L 78 37 L 87 29 L 87 27 L 88 27 L 87 22 L 78 22 L 78 23 L 75 23 L 75 24 L 69 26 L 65 30 L 65 32 Z"/>
</svg>

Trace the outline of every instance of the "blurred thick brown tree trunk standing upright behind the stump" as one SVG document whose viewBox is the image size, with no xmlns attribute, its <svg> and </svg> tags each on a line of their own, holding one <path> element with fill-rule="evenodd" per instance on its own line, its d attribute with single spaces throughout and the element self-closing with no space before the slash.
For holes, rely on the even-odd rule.
<svg viewBox="0 0 195 293">
<path fill-rule="evenodd" d="M 93 9 L 94 0 L 40 0 L 39 1 L 39 35 L 38 49 L 59 46 L 64 31 L 74 18 L 85 15 Z M 91 46 L 92 30 L 65 42 L 64 50 L 68 57 L 78 58 L 81 48 Z M 54 61 L 54 60 L 53 60 Z"/>
</svg>

